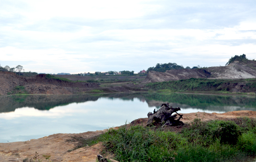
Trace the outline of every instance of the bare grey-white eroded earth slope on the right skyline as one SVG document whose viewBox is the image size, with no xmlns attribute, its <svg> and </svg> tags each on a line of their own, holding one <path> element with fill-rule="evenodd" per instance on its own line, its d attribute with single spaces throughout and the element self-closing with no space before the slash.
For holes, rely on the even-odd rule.
<svg viewBox="0 0 256 162">
<path fill-rule="evenodd" d="M 213 79 L 245 79 L 256 78 L 256 61 L 248 60 L 247 63 L 234 61 L 225 67 L 210 67 L 204 69 L 181 69 L 163 72 L 148 72 L 142 83 L 165 82 L 190 78 Z"/>
</svg>

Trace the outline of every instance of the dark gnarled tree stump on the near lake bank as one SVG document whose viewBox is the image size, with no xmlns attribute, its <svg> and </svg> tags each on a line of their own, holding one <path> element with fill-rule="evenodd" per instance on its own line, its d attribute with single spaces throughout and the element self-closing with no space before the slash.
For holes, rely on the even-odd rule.
<svg viewBox="0 0 256 162">
<path fill-rule="evenodd" d="M 177 111 L 180 111 L 180 107 L 172 108 L 172 106 L 169 107 L 169 103 L 162 104 L 161 108 L 156 111 L 154 110 L 154 113 L 149 112 L 147 114 L 148 121 L 147 126 L 179 126 L 183 125 L 184 123 L 180 121 L 183 115 L 180 115 L 177 113 Z M 173 113 L 176 113 L 172 115 Z M 177 119 L 177 115 L 179 115 L 179 118 Z"/>
</svg>

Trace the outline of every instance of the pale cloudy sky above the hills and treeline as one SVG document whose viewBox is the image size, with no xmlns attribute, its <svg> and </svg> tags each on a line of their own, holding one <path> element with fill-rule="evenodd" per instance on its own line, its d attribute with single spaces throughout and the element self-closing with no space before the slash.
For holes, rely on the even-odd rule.
<svg viewBox="0 0 256 162">
<path fill-rule="evenodd" d="M 25 72 L 225 66 L 256 59 L 254 0 L 0 0 L 0 65 Z"/>
</svg>

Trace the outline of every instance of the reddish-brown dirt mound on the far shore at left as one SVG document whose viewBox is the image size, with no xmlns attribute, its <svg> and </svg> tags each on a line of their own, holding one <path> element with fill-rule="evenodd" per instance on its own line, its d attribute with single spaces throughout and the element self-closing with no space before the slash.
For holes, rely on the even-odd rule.
<svg viewBox="0 0 256 162">
<path fill-rule="evenodd" d="M 99 88 L 96 83 L 71 82 L 46 74 L 23 77 L 12 72 L 0 72 L 0 95 L 29 93 L 29 94 L 72 94 Z M 22 91 L 21 91 L 22 89 Z"/>
</svg>

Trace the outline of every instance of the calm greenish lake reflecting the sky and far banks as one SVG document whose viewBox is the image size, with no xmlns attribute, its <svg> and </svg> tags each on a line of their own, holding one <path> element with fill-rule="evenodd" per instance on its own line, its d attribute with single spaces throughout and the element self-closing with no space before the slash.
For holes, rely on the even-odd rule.
<svg viewBox="0 0 256 162">
<path fill-rule="evenodd" d="M 0 96 L 0 143 L 121 126 L 160 108 L 179 113 L 256 110 L 255 97 L 182 93 Z"/>
</svg>

